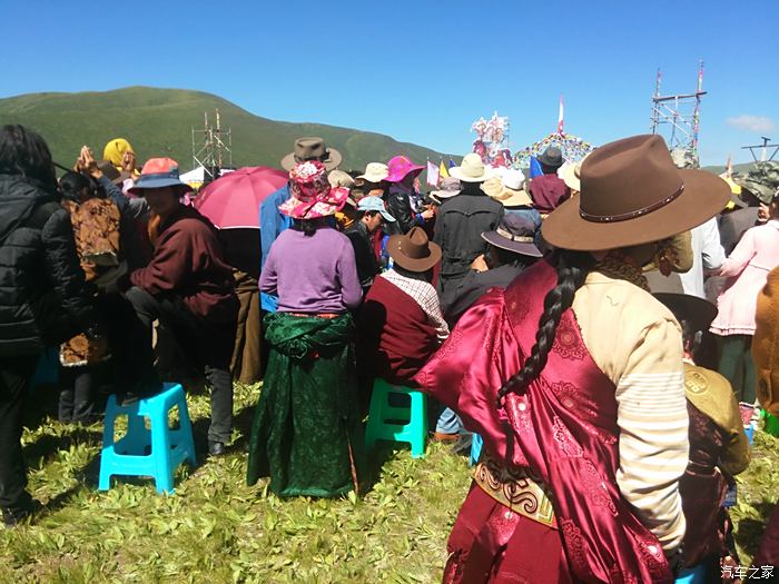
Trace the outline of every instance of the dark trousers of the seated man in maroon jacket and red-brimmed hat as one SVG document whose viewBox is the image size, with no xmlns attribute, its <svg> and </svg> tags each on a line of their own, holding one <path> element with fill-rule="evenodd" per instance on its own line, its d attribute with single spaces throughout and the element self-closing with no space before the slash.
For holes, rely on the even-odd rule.
<svg viewBox="0 0 779 584">
<path fill-rule="evenodd" d="M 151 346 L 151 325 L 159 320 L 170 330 L 187 356 L 203 372 L 211 388 L 211 424 L 208 439 L 227 443 L 233 433 L 233 379 L 230 357 L 235 343 L 235 324 L 209 326 L 195 317 L 180 299 L 158 298 L 132 287 L 125 293 L 141 324 L 148 331 Z M 139 363 L 150 367 L 150 363 Z"/>
</svg>

